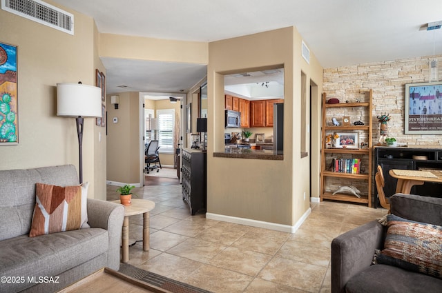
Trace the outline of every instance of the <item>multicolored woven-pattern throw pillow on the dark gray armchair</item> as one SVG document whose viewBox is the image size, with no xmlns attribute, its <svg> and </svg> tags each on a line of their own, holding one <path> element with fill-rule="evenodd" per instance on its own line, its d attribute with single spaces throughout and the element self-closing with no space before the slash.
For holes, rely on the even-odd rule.
<svg viewBox="0 0 442 293">
<path fill-rule="evenodd" d="M 442 226 L 387 215 L 387 236 L 376 263 L 442 279 Z"/>
</svg>

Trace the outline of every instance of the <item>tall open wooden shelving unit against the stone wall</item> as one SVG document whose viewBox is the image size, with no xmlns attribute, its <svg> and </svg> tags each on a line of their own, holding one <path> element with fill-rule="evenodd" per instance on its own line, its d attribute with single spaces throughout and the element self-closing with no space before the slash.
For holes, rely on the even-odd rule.
<svg viewBox="0 0 442 293">
<path fill-rule="evenodd" d="M 321 172 L 320 172 L 320 201 L 324 199 L 333 201 L 345 201 L 350 203 L 364 203 L 368 207 L 372 207 L 372 100 L 373 91 L 369 90 L 368 101 L 363 103 L 336 103 L 329 104 L 326 103 L 327 95 L 323 93 L 323 124 L 321 129 L 322 135 L 322 148 L 320 154 Z M 331 117 L 327 117 L 327 110 L 332 108 L 361 108 L 364 111 L 367 121 L 363 121 L 365 125 L 350 125 L 350 126 L 334 126 L 327 125 L 327 120 Z M 367 137 L 368 148 L 365 149 L 350 149 L 350 148 L 326 148 L 325 147 L 325 137 L 329 133 L 333 132 L 364 132 Z M 332 156 L 352 156 L 354 159 L 361 159 L 363 156 L 367 156 L 367 165 L 365 166 L 365 173 L 363 174 L 351 174 L 342 172 L 333 172 L 327 170 L 326 158 L 327 155 Z M 332 194 L 333 191 L 327 188 L 327 180 L 336 179 L 342 184 L 340 185 L 352 185 L 352 181 L 361 181 L 361 183 L 366 186 L 366 192 L 361 194 L 361 198 L 354 196 L 353 194 Z"/>
</svg>

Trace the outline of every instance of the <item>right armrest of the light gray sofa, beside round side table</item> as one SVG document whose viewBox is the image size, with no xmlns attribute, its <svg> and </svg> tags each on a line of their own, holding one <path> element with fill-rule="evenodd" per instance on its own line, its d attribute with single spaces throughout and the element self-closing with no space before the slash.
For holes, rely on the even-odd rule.
<svg viewBox="0 0 442 293">
<path fill-rule="evenodd" d="M 109 248 L 106 267 L 119 270 L 119 248 L 122 238 L 124 206 L 109 201 L 88 199 L 88 223 L 92 228 L 108 230 Z"/>
</svg>

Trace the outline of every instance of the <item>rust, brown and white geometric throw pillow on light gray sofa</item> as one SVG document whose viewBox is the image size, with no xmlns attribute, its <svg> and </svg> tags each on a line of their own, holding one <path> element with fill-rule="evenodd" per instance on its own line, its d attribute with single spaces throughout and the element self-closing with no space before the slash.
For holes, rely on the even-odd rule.
<svg viewBox="0 0 442 293">
<path fill-rule="evenodd" d="M 90 228 L 86 207 L 88 185 L 86 182 L 63 188 L 37 183 L 29 236 Z"/>
</svg>

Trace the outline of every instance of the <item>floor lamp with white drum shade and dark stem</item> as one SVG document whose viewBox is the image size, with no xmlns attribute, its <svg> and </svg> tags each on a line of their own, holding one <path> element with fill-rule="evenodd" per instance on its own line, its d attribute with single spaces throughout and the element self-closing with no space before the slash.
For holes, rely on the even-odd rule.
<svg viewBox="0 0 442 293">
<path fill-rule="evenodd" d="M 57 116 L 75 117 L 79 148 L 79 180 L 83 183 L 84 117 L 102 117 L 102 90 L 81 83 L 57 83 Z"/>
</svg>

